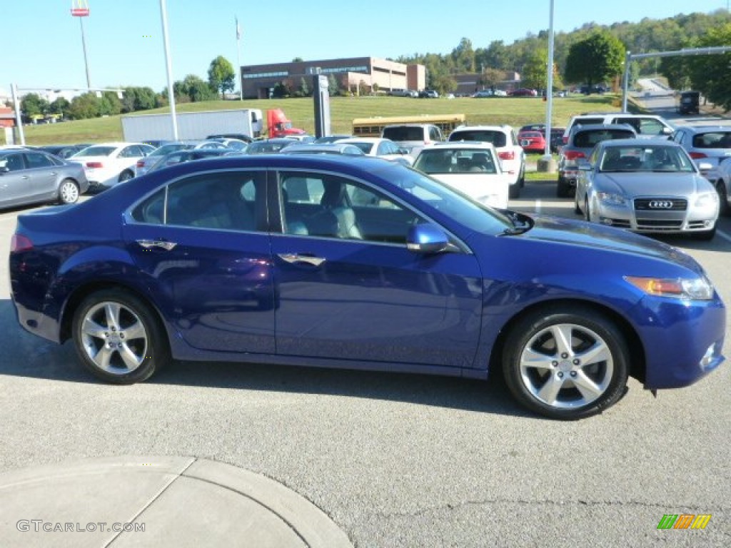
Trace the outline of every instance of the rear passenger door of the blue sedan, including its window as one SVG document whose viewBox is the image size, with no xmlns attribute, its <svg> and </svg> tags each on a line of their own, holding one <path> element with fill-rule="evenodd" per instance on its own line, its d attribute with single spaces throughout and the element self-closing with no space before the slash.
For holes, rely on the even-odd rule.
<svg viewBox="0 0 731 548">
<path fill-rule="evenodd" d="M 124 226 L 151 297 L 192 349 L 275 351 L 265 187 L 264 170 L 191 175 L 140 202 Z"/>
</svg>

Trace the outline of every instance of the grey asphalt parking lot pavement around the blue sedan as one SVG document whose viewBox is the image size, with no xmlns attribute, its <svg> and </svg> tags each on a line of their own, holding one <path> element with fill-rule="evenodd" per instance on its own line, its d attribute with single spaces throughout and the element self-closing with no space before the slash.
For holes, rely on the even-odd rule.
<svg viewBox="0 0 731 548">
<path fill-rule="evenodd" d="M 553 182 L 527 183 L 510 207 L 575 217 L 555 196 Z M 1 256 L 22 211 L 0 213 Z M 664 240 L 731 303 L 731 218 L 711 242 Z M 656 398 L 631 380 L 618 406 L 568 423 L 523 411 L 499 380 L 176 363 L 116 387 L 80 368 L 71 344 L 18 327 L 3 272 L 1 471 L 115 455 L 222 461 L 303 495 L 359 547 L 728 544 L 727 364 Z M 657 529 L 683 513 L 712 517 L 705 530 Z"/>
</svg>

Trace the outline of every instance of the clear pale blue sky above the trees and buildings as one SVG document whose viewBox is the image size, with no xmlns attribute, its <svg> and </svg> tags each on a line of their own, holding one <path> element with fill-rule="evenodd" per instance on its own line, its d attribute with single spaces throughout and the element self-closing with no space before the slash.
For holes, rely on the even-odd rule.
<svg viewBox="0 0 731 548">
<path fill-rule="evenodd" d="M 511 44 L 549 28 L 550 0 L 164 0 L 173 80 L 233 66 L 341 57 L 397 58 Z M 72 0 L 2 0 L 0 96 L 10 84 L 86 88 Z M 729 0 L 554 0 L 554 31 L 727 9 Z M 83 18 L 92 88 L 167 86 L 161 0 L 88 0 Z M 236 40 L 235 18 L 241 29 Z"/>
</svg>

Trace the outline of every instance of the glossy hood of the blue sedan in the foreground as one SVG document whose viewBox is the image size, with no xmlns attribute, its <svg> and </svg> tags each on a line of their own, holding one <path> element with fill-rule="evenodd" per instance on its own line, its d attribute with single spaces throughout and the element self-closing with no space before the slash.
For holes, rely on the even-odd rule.
<svg viewBox="0 0 731 548">
<path fill-rule="evenodd" d="M 664 259 L 680 263 L 699 275 L 703 275 L 698 263 L 680 249 L 650 237 L 629 232 L 629 230 L 559 217 L 531 216 L 531 218 L 534 220 L 534 227 L 519 237 L 534 241 Z"/>
</svg>

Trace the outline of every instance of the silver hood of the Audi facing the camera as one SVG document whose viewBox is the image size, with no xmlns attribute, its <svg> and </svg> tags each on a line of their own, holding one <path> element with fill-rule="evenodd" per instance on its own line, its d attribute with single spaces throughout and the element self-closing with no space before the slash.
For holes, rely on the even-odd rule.
<svg viewBox="0 0 731 548">
<path fill-rule="evenodd" d="M 689 196 L 711 191 L 711 183 L 695 173 L 626 172 L 599 173 L 596 190 L 617 192 L 625 197 Z"/>
</svg>

